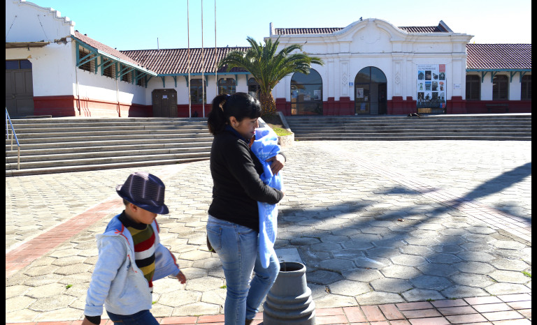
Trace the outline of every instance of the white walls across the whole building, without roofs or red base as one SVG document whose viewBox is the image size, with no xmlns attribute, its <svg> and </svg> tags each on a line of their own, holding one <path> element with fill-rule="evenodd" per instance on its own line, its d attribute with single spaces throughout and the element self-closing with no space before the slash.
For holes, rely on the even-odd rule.
<svg viewBox="0 0 537 325">
<path fill-rule="evenodd" d="M 473 36 L 454 33 L 443 22 L 440 22 L 439 26 L 447 32 L 410 33 L 385 20 L 366 19 L 334 33 L 276 35 L 271 27 L 271 35 L 266 39 L 279 39 L 280 48 L 292 44 L 302 45 L 303 52 L 318 56 L 324 61 L 323 66 L 312 66 L 322 78 L 320 99 L 323 114 L 328 112 L 325 110 L 326 103 L 336 103 L 336 106 L 342 107 L 341 114 L 354 112 L 354 108 L 350 106 L 354 105 L 352 102 L 357 94 L 355 77 L 360 70 L 369 66 L 380 69 L 386 77 L 385 100 L 387 106 L 392 107 L 388 114 L 403 114 L 404 109 L 415 109 L 418 66 L 423 65 L 442 65 L 445 68 L 445 99 L 457 101 L 457 112 L 464 112 L 464 104 L 461 104 L 461 101 L 466 99 L 466 75 L 482 76 L 478 71 L 466 73 L 466 44 Z M 138 86 L 117 77 L 106 77 L 103 75 L 102 66 L 96 71 L 94 68 L 91 71 L 78 68 L 78 45 L 81 43 L 77 38 L 85 37 L 76 32 L 74 27 L 75 23 L 69 20 L 69 17 L 61 17 L 59 11 L 52 8 L 43 8 L 22 0 L 6 0 L 6 61 L 31 62 L 36 109 L 40 105 L 46 109 L 47 104 L 52 103 L 65 105 L 73 111 L 73 100 L 76 100 L 77 115 L 84 115 L 85 108 L 86 116 L 130 116 L 134 107 L 136 114 L 151 116 L 152 92 L 155 89 L 175 89 L 178 109 L 182 116 L 185 116 L 185 112 L 188 116 L 185 106 L 188 107 L 189 104 L 189 90 L 184 75 L 160 76 L 145 70 L 152 76 L 148 75 L 147 84 Z M 86 39 L 86 42 L 98 43 L 91 39 Z M 87 47 L 88 44 L 83 45 Z M 108 49 L 123 58 L 127 57 L 109 47 Z M 110 56 L 110 53 L 99 52 L 99 49 L 93 51 L 98 53 L 99 59 L 96 63 L 92 62 L 92 67 L 102 63 L 103 56 L 117 59 L 117 63 L 125 63 L 115 56 Z M 135 66 L 134 63 L 126 64 L 144 72 L 143 68 Z M 506 70 L 496 73 L 510 78 L 508 100 L 521 100 L 520 74 L 513 77 Z M 531 68 L 527 74 L 531 75 Z M 208 72 L 204 77 L 207 80 L 206 103 L 210 104 L 217 95 L 215 75 Z M 248 79 L 252 76 L 229 73 L 218 74 L 217 77 L 219 80 L 233 78 L 236 80 L 236 91 L 248 92 Z M 201 75 L 192 75 L 191 80 L 195 79 L 201 79 Z M 285 106 L 287 114 L 292 102 L 291 80 L 292 75 L 287 75 L 273 89 L 273 97 L 277 99 L 278 105 Z M 482 78 L 480 100 L 493 100 L 492 88 L 489 73 Z M 414 103 L 411 103 L 412 101 Z M 531 106 L 531 97 L 529 101 Z M 395 111 L 393 108 L 396 106 L 405 108 Z M 334 114 L 338 114 L 338 109 L 332 109 Z M 199 112 L 199 116 L 203 116 L 203 113 Z"/>
</svg>

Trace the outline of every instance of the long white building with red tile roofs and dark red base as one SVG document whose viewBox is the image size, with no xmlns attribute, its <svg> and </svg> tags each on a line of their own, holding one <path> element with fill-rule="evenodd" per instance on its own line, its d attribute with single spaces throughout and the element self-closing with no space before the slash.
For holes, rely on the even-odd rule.
<svg viewBox="0 0 537 325">
<path fill-rule="evenodd" d="M 266 39 L 324 61 L 275 86 L 287 115 L 531 112 L 531 44 L 470 44 L 443 21 L 270 31 Z M 118 51 L 85 32 L 56 10 L 6 0 L 11 116 L 202 117 L 217 93 L 257 89 L 248 71 L 214 68 L 247 47 Z"/>
</svg>

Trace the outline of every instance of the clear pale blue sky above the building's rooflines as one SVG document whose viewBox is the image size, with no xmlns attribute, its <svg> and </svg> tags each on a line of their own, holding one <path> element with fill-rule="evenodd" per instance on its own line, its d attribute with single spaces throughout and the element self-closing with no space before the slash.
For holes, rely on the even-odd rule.
<svg viewBox="0 0 537 325">
<path fill-rule="evenodd" d="M 117 50 L 187 47 L 187 0 L 33 0 L 59 10 L 80 33 Z M 201 47 L 201 0 L 189 0 L 190 47 Z M 395 26 L 443 20 L 471 43 L 531 43 L 531 0 L 216 0 L 216 45 L 249 46 L 275 28 L 346 27 L 359 17 Z M 215 0 L 203 0 L 203 47 L 215 46 Z"/>
</svg>

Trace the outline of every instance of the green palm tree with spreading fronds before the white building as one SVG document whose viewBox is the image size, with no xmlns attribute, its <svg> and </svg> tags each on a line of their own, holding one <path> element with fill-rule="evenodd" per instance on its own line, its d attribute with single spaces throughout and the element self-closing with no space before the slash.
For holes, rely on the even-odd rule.
<svg viewBox="0 0 537 325">
<path fill-rule="evenodd" d="M 280 44 L 280 38 L 272 43 L 268 38 L 265 45 L 257 43 L 253 38 L 246 38 L 252 45 L 246 52 L 229 52 L 219 63 L 219 67 L 227 65 L 227 71 L 231 68 L 243 68 L 252 74 L 260 86 L 259 101 L 262 107 L 262 116 L 276 114 L 276 103 L 272 96 L 272 89 L 289 73 L 310 73 L 312 63 L 322 66 L 324 62 L 316 56 L 308 56 L 305 53 L 294 53 L 294 50 L 302 50 L 302 45 L 292 44 L 284 47 L 278 54 L 276 49 Z"/>
</svg>

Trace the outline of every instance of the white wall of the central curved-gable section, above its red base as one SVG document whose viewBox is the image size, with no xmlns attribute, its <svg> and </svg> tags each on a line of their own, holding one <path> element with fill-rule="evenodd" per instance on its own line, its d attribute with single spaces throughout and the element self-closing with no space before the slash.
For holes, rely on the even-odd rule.
<svg viewBox="0 0 537 325">
<path fill-rule="evenodd" d="M 332 34 L 271 35 L 280 46 L 303 45 L 303 52 L 318 56 L 324 66 L 313 65 L 323 80 L 323 100 L 329 97 L 355 99 L 354 86 L 359 70 L 374 66 L 387 77 L 387 98 L 417 94 L 417 66 L 445 64 L 447 99 L 465 96 L 466 43 L 473 37 L 464 33 L 408 33 L 379 19 L 350 24 Z M 277 98 L 290 100 L 291 76 L 275 87 Z M 454 84 L 460 87 L 454 89 Z"/>
</svg>

